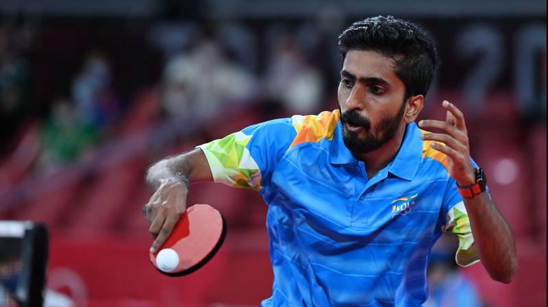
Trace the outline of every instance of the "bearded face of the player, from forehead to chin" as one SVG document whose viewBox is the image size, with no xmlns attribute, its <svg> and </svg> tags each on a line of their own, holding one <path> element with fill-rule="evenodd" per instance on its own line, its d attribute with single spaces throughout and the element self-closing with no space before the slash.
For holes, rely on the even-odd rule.
<svg viewBox="0 0 548 307">
<path fill-rule="evenodd" d="M 349 51 L 338 86 L 345 145 L 353 153 L 368 153 L 391 140 L 403 125 L 404 95 L 393 59 L 375 51 Z"/>
</svg>

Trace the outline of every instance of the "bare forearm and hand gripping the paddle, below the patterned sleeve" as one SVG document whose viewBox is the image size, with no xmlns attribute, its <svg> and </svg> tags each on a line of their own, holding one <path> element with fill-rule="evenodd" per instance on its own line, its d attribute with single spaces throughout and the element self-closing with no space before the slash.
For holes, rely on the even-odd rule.
<svg viewBox="0 0 548 307">
<path fill-rule="evenodd" d="M 190 182 L 212 181 L 206 155 L 194 149 L 160 160 L 149 167 L 147 186 L 155 191 L 147 204 L 149 232 L 154 238 L 151 251 L 160 247 L 186 210 Z"/>
</svg>

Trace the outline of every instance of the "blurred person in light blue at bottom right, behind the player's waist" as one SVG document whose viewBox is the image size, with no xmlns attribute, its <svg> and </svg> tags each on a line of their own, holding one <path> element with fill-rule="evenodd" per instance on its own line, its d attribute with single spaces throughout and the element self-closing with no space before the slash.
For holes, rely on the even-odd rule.
<svg viewBox="0 0 548 307">
<path fill-rule="evenodd" d="M 443 235 L 432 249 L 427 272 L 429 296 L 424 307 L 479 307 L 475 285 L 458 269 L 453 236 Z"/>
</svg>

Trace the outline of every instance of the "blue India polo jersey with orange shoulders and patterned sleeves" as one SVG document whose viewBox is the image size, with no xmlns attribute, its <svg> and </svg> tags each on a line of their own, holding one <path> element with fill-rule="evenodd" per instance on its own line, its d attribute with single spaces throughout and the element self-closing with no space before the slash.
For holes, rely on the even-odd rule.
<svg viewBox="0 0 548 307">
<path fill-rule="evenodd" d="M 262 306 L 420 306 L 444 231 L 458 235 L 459 265 L 478 260 L 447 157 L 410 123 L 395 159 L 368 179 L 339 115 L 268 121 L 199 146 L 215 182 L 256 189 L 269 206 L 274 282 Z"/>
</svg>

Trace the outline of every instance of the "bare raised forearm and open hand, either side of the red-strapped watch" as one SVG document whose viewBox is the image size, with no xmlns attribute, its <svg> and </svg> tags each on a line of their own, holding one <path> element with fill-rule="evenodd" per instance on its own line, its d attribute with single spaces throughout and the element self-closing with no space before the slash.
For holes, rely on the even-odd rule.
<svg viewBox="0 0 548 307">
<path fill-rule="evenodd" d="M 447 155 L 449 175 L 459 186 L 473 186 L 476 183 L 475 171 L 470 157 L 464 115 L 449 101 L 443 101 L 443 108 L 447 110 L 446 121 L 424 120 L 419 122 L 419 127 L 425 130 L 435 128 L 445 133 L 422 134 L 421 138 L 444 143 L 445 145 L 432 142 L 431 146 Z M 519 265 L 510 226 L 488 193 L 464 197 L 463 200 L 475 249 L 485 269 L 494 280 L 511 282 Z"/>
</svg>

